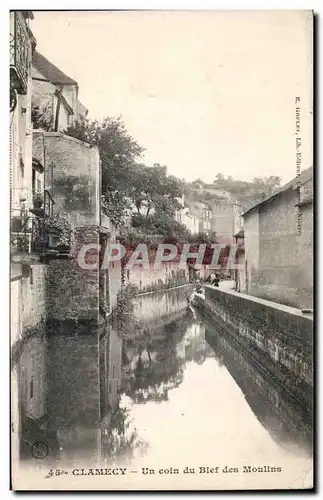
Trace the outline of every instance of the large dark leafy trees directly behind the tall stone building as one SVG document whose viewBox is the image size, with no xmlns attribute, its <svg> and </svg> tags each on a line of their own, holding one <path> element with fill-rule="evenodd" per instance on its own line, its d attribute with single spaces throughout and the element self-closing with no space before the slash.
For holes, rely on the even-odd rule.
<svg viewBox="0 0 323 500">
<path fill-rule="evenodd" d="M 161 220 L 157 226 L 164 227 L 165 219 L 174 217 L 179 208 L 177 201 L 182 195 L 182 182 L 167 174 L 167 167 L 155 163 L 148 167 L 138 163 L 143 148 L 127 132 L 121 118 L 105 118 L 98 121 L 83 119 L 69 127 L 66 133 L 100 152 L 102 168 L 102 207 L 111 222 L 119 229 L 124 225 L 132 206 L 138 216 L 148 219 L 151 212 Z M 147 220 L 145 232 L 155 229 Z M 140 224 L 135 227 L 139 227 Z M 153 224 L 154 225 L 154 224 Z M 151 226 L 151 227 L 149 227 Z"/>
</svg>

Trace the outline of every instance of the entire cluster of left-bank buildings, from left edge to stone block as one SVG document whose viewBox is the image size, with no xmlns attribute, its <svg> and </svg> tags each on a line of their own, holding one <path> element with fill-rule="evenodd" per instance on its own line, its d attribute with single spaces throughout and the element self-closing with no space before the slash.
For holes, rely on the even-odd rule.
<svg viewBox="0 0 323 500">
<path fill-rule="evenodd" d="M 101 210 L 98 150 L 63 134 L 86 115 L 78 84 L 35 51 L 30 19 L 10 14 L 12 345 L 55 320 L 104 322 L 121 287 L 120 267 L 109 279 L 79 265 L 84 245 L 117 234 Z"/>
</svg>

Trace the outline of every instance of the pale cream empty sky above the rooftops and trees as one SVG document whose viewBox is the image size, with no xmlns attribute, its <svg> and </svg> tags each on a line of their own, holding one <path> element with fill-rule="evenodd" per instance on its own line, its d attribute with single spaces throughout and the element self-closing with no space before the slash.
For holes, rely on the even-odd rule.
<svg viewBox="0 0 323 500">
<path fill-rule="evenodd" d="M 37 50 L 187 180 L 295 177 L 312 165 L 310 11 L 34 12 Z"/>
</svg>

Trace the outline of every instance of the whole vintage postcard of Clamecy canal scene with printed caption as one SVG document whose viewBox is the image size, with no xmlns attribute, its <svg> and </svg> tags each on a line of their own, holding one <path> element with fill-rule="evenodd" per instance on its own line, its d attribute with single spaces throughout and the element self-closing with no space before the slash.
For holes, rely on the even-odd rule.
<svg viewBox="0 0 323 500">
<path fill-rule="evenodd" d="M 10 12 L 13 490 L 313 488 L 313 30 Z"/>
</svg>

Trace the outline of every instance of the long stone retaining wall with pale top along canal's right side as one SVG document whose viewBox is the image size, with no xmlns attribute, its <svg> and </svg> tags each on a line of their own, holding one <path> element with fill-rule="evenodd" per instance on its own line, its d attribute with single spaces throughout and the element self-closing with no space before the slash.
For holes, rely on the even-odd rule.
<svg viewBox="0 0 323 500">
<path fill-rule="evenodd" d="M 289 392 L 312 404 L 310 317 L 287 306 L 210 287 L 204 311 Z"/>
</svg>

